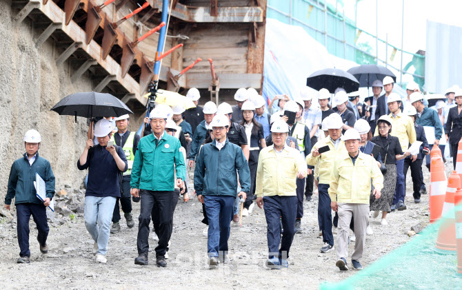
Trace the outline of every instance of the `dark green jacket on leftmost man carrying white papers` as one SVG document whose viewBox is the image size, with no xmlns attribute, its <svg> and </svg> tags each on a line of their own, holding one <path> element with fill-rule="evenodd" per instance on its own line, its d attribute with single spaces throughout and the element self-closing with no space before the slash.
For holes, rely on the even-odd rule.
<svg viewBox="0 0 462 290">
<path fill-rule="evenodd" d="M 45 181 L 46 197 L 50 200 L 54 196 L 54 175 L 51 169 L 50 162 L 45 158 L 37 156 L 32 165 L 29 164 L 27 153 L 24 153 L 23 158 L 19 158 L 11 165 L 10 178 L 8 178 L 8 191 L 5 196 L 5 204 L 11 205 L 11 200 L 15 198 L 14 204 L 18 203 L 38 203 L 43 202 L 37 197 L 34 181 L 35 174 Z"/>
</svg>

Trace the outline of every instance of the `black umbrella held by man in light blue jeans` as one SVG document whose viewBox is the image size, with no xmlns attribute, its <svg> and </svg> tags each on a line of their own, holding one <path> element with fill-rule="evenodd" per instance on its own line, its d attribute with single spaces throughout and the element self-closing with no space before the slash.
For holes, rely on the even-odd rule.
<svg viewBox="0 0 462 290">
<path fill-rule="evenodd" d="M 52 111 L 60 115 L 80 117 L 119 117 L 133 112 L 121 100 L 112 94 L 101 94 L 99 92 L 78 92 L 70 94 L 59 101 Z"/>
</svg>

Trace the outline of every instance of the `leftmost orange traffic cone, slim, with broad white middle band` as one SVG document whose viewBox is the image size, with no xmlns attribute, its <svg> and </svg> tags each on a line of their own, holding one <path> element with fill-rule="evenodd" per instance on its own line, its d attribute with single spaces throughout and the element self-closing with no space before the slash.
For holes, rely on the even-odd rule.
<svg viewBox="0 0 462 290">
<path fill-rule="evenodd" d="M 441 217 L 447 185 L 443 158 L 435 155 L 430 163 L 430 222 Z"/>
</svg>

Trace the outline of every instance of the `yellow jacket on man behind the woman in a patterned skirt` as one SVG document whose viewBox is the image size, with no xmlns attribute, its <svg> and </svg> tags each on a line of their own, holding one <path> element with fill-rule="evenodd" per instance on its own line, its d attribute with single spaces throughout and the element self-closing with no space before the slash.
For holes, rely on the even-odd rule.
<svg viewBox="0 0 462 290">
<path fill-rule="evenodd" d="M 412 122 L 410 116 L 406 116 L 402 112 L 400 112 L 396 118 L 394 118 L 391 113 L 388 116 L 392 119 L 392 132 L 390 135 L 399 138 L 399 143 L 401 144 L 401 150 L 403 150 L 403 152 L 408 151 L 409 143 L 412 144 L 417 140 L 414 122 Z M 375 127 L 374 136 L 379 136 L 379 126 Z"/>
</svg>

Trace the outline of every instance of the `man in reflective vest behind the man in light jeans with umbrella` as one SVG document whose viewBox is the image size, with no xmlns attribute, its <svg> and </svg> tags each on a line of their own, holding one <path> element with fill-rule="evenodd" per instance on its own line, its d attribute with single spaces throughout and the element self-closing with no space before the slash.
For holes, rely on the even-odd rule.
<svg viewBox="0 0 462 290">
<path fill-rule="evenodd" d="M 111 234 L 115 234 L 121 230 L 119 220 L 120 208 L 119 201 L 122 207 L 123 216 L 127 222 L 127 227 L 134 227 L 134 220 L 132 217 L 132 201 L 130 200 L 130 178 L 132 174 L 132 166 L 134 161 L 134 154 L 137 153 L 137 147 L 139 143 L 139 135 L 137 132 L 130 132 L 128 125 L 130 124 L 130 117 L 128 114 L 114 118 L 118 132 L 112 134 L 110 141 L 114 142 L 115 145 L 121 147 L 127 158 L 128 169 L 123 172 L 120 198 L 116 200 L 114 207 L 114 214 L 112 214 L 112 227 Z"/>
</svg>

